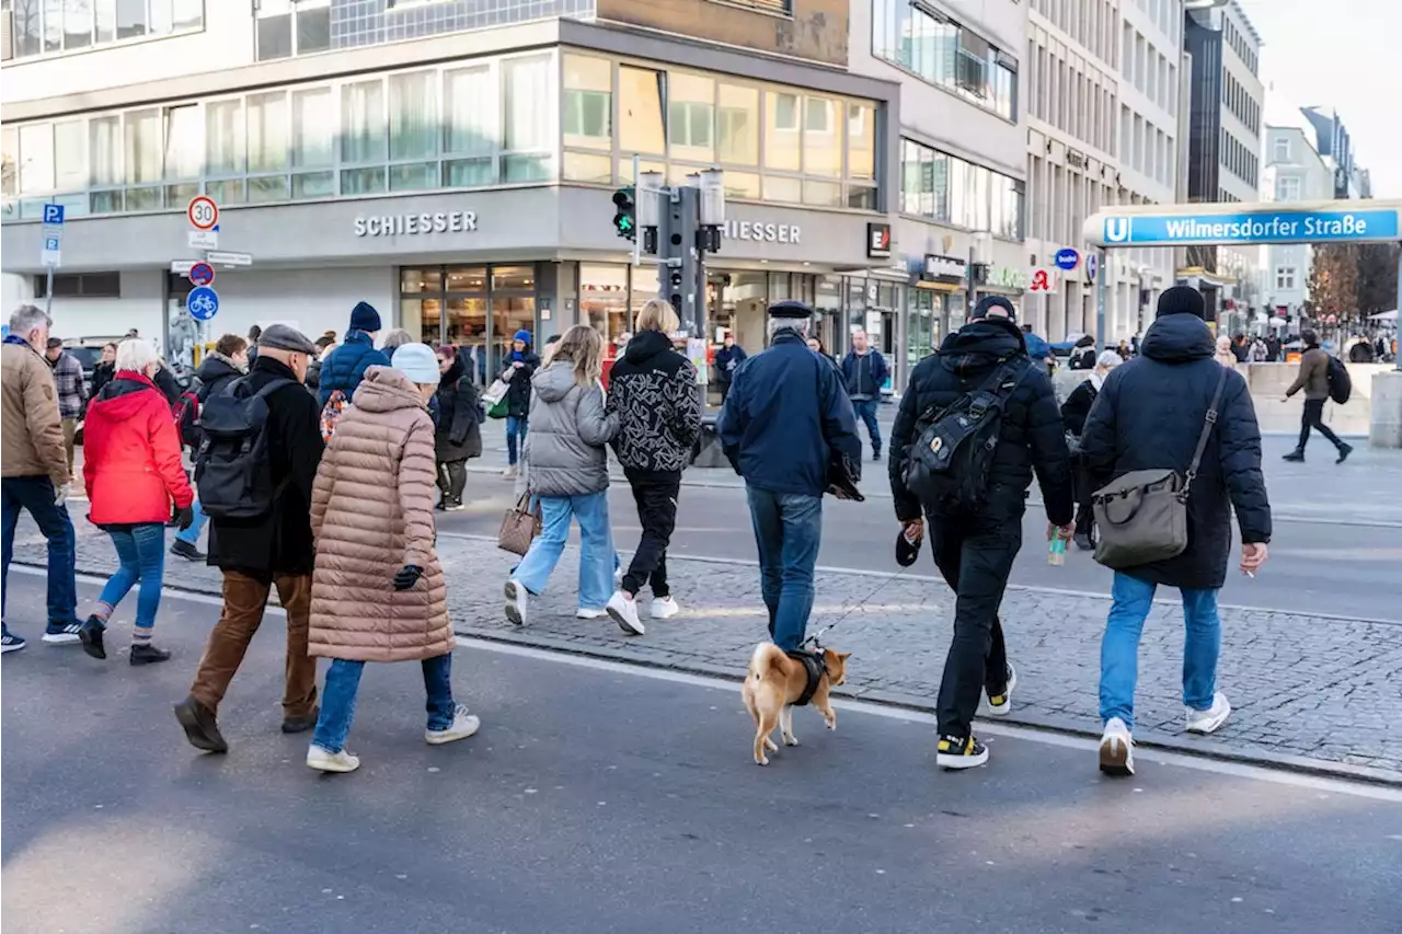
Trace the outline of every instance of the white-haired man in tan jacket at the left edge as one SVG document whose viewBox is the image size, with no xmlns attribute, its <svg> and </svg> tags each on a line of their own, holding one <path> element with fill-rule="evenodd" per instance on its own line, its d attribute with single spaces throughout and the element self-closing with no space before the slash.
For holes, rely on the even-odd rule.
<svg viewBox="0 0 1402 934">
<path fill-rule="evenodd" d="M 32 304 L 10 316 L 10 334 L 0 344 L 0 654 L 17 652 L 25 641 L 4 623 L 6 576 L 14 557 L 20 512 L 28 510 L 49 540 L 49 606 L 43 641 L 79 641 L 73 520 L 64 502 L 73 477 L 63 452 L 59 398 L 43 353 L 49 316 Z"/>
</svg>

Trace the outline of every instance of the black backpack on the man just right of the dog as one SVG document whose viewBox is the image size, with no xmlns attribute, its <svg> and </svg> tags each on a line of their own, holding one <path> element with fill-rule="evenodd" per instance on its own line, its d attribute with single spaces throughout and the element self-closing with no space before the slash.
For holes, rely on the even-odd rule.
<svg viewBox="0 0 1402 934">
<path fill-rule="evenodd" d="M 1002 414 L 1029 366 L 1022 355 L 1004 360 L 983 386 L 944 410 L 931 407 L 916 422 L 904 477 L 906 488 L 925 508 L 969 513 L 983 506 Z"/>
</svg>

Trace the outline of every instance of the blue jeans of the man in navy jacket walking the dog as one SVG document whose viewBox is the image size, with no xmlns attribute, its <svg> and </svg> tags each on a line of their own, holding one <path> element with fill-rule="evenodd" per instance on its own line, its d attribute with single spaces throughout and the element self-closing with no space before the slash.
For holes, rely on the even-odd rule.
<svg viewBox="0 0 1402 934">
<path fill-rule="evenodd" d="M 823 498 L 746 487 L 754 543 L 760 550 L 760 592 L 770 611 L 770 637 L 785 652 L 803 642 L 813 611 L 813 565 L 823 537 Z"/>
</svg>

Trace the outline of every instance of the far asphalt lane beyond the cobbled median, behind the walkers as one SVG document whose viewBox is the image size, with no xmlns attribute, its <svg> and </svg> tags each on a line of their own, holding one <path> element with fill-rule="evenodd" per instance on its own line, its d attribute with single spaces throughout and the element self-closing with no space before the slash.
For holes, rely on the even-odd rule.
<svg viewBox="0 0 1402 934">
<path fill-rule="evenodd" d="M 439 519 L 442 534 L 495 536 L 502 513 L 515 502 L 512 482 L 486 473 L 468 475 L 468 506 Z M 608 494 L 614 537 L 631 551 L 641 529 L 632 494 L 617 481 Z M 1032 505 L 1023 519 L 1022 553 L 1011 582 L 1037 589 L 1109 593 L 1110 572 L 1089 554 L 1067 554 L 1063 567 L 1050 567 L 1046 553 L 1046 515 Z M 823 547 L 819 564 L 862 571 L 899 571 L 894 560 L 896 517 L 890 499 L 864 503 L 823 503 Z M 722 487 L 683 487 L 672 551 L 693 557 L 754 561 L 754 533 L 744 491 Z M 1363 618 L 1402 620 L 1395 569 L 1402 558 L 1402 527 L 1357 526 L 1319 520 L 1277 519 L 1270 562 L 1256 575 L 1227 575 L 1221 602 L 1235 606 L 1321 613 Z M 928 551 L 911 569 L 935 575 Z M 1165 592 L 1168 593 L 1168 592 Z"/>
</svg>

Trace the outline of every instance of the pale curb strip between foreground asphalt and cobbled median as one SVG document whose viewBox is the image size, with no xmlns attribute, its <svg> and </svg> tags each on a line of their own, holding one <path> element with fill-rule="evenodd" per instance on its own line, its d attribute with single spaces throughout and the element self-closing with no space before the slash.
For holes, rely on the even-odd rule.
<svg viewBox="0 0 1402 934">
<path fill-rule="evenodd" d="M 43 571 L 45 565 L 32 561 L 14 561 L 13 564 L 24 568 L 34 568 Z M 77 569 L 80 575 L 88 576 L 102 576 L 104 572 Z M 210 588 L 195 588 L 184 585 L 163 585 L 164 590 L 171 590 L 172 593 L 193 595 L 193 596 L 220 596 L 220 592 Z M 275 603 L 276 593 L 269 595 L 269 603 Z M 707 665 L 702 662 L 683 662 L 683 663 L 666 663 L 655 662 L 642 658 L 627 658 L 615 652 L 601 651 L 593 647 L 582 647 L 571 639 L 557 638 L 552 635 L 531 634 L 530 637 L 515 637 L 509 631 L 502 630 L 481 630 L 470 625 L 454 624 L 453 634 L 468 637 L 474 639 L 481 639 L 484 642 L 499 642 L 503 645 L 520 645 L 526 648 L 544 649 L 551 652 L 562 652 L 568 655 L 578 655 L 582 658 L 592 658 L 604 662 L 614 662 L 620 665 L 635 665 L 638 668 L 651 668 L 659 670 L 673 670 L 687 675 L 701 675 L 705 677 L 715 677 L 726 682 L 733 682 L 740 684 L 744 679 L 737 676 L 735 669 L 721 666 L 721 665 Z M 848 700 L 859 700 L 868 704 L 878 704 L 882 707 L 893 707 L 899 710 L 908 710 L 918 714 L 934 714 L 935 707 L 928 700 L 913 694 L 903 694 L 900 691 L 889 691 L 885 689 L 872 689 L 862 691 L 848 691 L 837 689 L 833 691 L 837 697 L 844 697 Z M 1074 736 L 1077 739 L 1096 739 L 1099 732 L 1094 729 L 1087 729 L 1080 718 L 1070 717 L 1043 717 L 1043 715 L 1019 715 L 1014 711 L 1008 717 L 998 718 L 1000 724 L 1012 724 L 1016 726 L 1025 726 L 1029 729 L 1037 729 L 1047 733 L 1057 733 L 1063 736 Z M 1197 759 L 1210 759 L 1216 762 L 1235 763 L 1244 766 L 1258 766 L 1266 767 L 1276 771 L 1286 771 L 1302 776 L 1314 777 L 1328 777 L 1338 778 L 1343 781 L 1356 781 L 1370 785 L 1380 785 L 1385 788 L 1402 788 L 1402 771 L 1391 771 L 1388 769 L 1374 769 L 1371 766 L 1350 766 L 1340 762 L 1329 762 L 1325 759 L 1309 759 L 1307 756 L 1295 756 L 1290 753 L 1277 753 L 1266 749 L 1228 749 L 1218 746 L 1204 745 L 1203 740 L 1183 739 L 1182 736 L 1175 736 L 1171 733 L 1161 733 L 1155 731 L 1144 731 L 1136 733 L 1134 742 L 1138 746 L 1147 749 L 1161 749 L 1165 752 L 1172 752 L 1183 756 L 1195 756 Z"/>
</svg>

